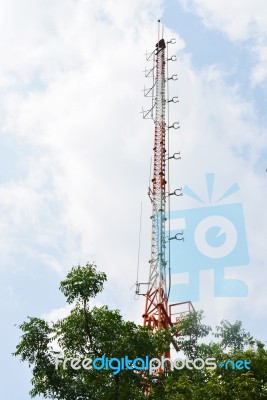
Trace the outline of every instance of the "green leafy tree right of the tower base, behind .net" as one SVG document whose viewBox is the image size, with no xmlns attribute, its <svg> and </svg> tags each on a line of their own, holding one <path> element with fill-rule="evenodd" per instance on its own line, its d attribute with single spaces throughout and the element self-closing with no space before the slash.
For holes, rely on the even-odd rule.
<svg viewBox="0 0 267 400">
<path fill-rule="evenodd" d="M 214 369 L 173 370 L 165 382 L 168 400 L 267 399 L 267 351 L 246 332 L 241 321 L 221 321 L 208 343 L 211 328 L 202 323 L 203 312 L 192 312 L 179 321 L 177 344 L 191 360 L 214 358 Z"/>
</svg>

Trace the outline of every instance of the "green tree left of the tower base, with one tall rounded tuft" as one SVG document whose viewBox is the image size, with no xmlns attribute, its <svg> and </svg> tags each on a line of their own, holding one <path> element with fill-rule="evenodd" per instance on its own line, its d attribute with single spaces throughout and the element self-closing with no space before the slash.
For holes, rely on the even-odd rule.
<svg viewBox="0 0 267 400">
<path fill-rule="evenodd" d="M 90 307 L 90 300 L 103 290 L 105 281 L 106 275 L 94 264 L 73 267 L 60 284 L 67 302 L 74 304 L 70 315 L 52 324 L 30 317 L 20 325 L 23 334 L 14 355 L 32 367 L 32 397 L 42 394 L 64 400 L 141 400 L 145 398 L 145 387 L 156 385 L 155 379 L 137 370 L 114 374 L 111 369 L 74 369 L 70 362 L 64 364 L 54 350 L 57 342 L 65 360 L 103 355 L 109 359 L 145 359 L 165 350 L 169 340 L 166 332 L 152 335 L 151 329 L 124 321 L 118 310 Z"/>
</svg>

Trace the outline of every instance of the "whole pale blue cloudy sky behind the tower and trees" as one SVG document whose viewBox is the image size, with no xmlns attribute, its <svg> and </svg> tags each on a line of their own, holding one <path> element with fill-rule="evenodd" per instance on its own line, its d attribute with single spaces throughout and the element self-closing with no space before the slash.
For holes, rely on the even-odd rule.
<svg viewBox="0 0 267 400">
<path fill-rule="evenodd" d="M 29 398 L 30 370 L 11 353 L 27 316 L 67 315 L 59 282 L 94 261 L 108 275 L 97 304 L 142 323 L 134 299 L 140 203 L 139 278 L 147 280 L 147 196 L 153 122 L 142 90 L 145 53 L 157 20 L 176 38 L 178 75 L 170 89 L 180 130 L 171 147 L 171 187 L 187 185 L 207 202 L 234 183 L 223 205 L 242 204 L 249 262 L 226 265 L 245 297 L 215 297 L 214 271 L 199 271 L 194 302 L 213 326 L 242 320 L 266 340 L 267 4 L 263 0 L 0 0 L 0 388 L 6 400 Z M 220 203 L 221 204 L 221 203 Z M 218 205 L 218 204 L 217 204 Z M 173 210 L 199 204 L 188 196 Z M 212 209 L 210 209 L 212 212 Z M 173 282 L 185 283 L 186 273 Z"/>
</svg>

